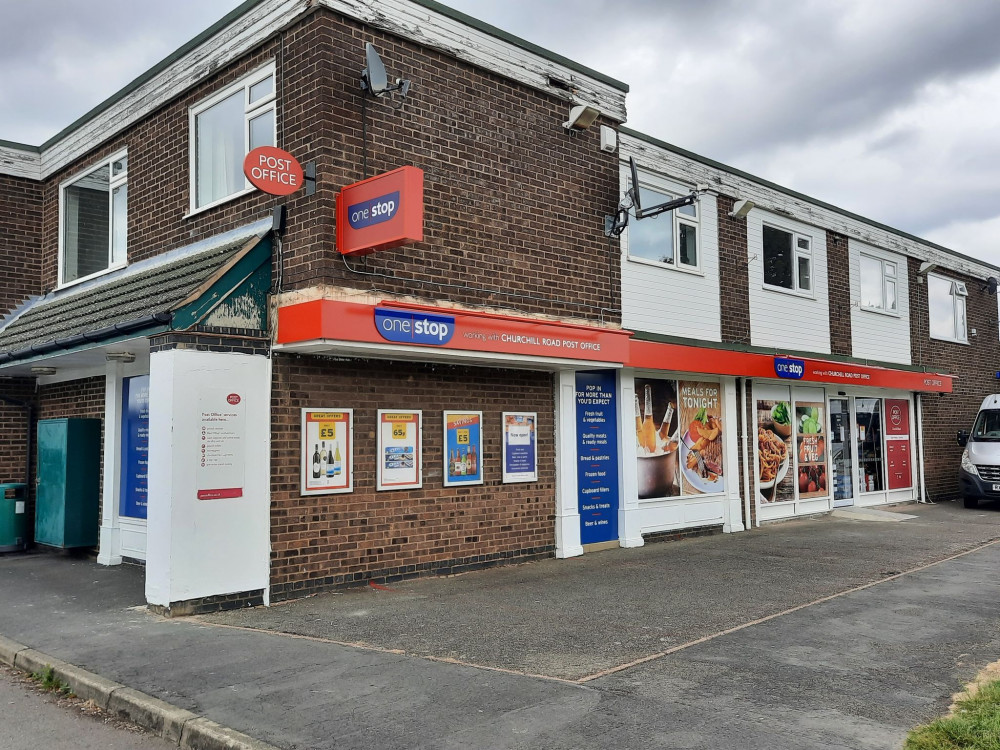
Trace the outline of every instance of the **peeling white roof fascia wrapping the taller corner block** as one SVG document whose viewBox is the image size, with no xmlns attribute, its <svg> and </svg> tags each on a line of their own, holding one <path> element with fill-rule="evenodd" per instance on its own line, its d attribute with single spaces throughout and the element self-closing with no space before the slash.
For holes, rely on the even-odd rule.
<svg viewBox="0 0 1000 750">
<path fill-rule="evenodd" d="M 239 59 L 314 5 L 550 95 L 596 106 L 617 122 L 625 120 L 624 91 L 409 0 L 264 0 L 41 154 L 0 142 L 0 174 L 35 180 L 49 177 Z M 359 42 L 359 74 L 363 64 L 361 49 Z M 550 76 L 570 83 L 574 93 L 551 86 Z"/>
</svg>

